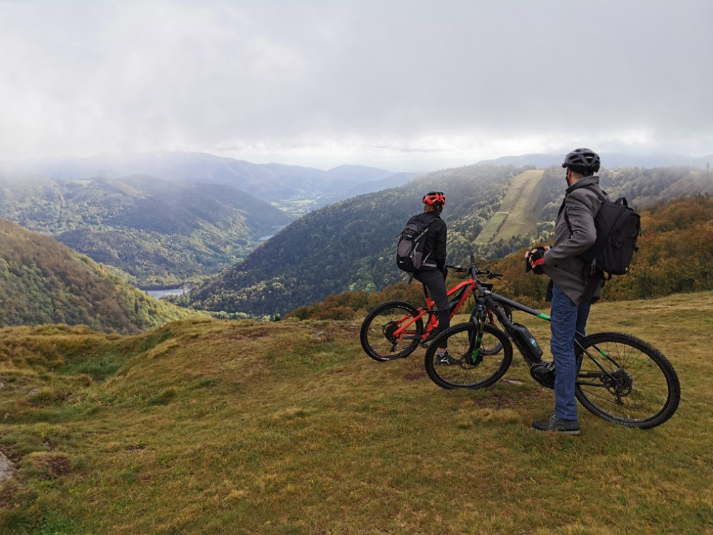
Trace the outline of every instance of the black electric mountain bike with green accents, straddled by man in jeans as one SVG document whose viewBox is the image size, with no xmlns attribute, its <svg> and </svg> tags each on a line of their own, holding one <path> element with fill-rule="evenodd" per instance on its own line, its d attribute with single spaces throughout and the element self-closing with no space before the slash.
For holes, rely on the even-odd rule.
<svg viewBox="0 0 713 535">
<path fill-rule="evenodd" d="M 455 267 L 467 272 L 476 286 L 476 307 L 466 323 L 453 325 L 433 338 L 426 350 L 426 372 L 439 387 L 481 388 L 503 377 L 513 360 L 513 343 L 530 375 L 545 387 L 554 387 L 552 362 L 541 360 L 542 350 L 527 327 L 513 322 L 512 310 L 550 320 L 550 316 L 493 293 L 493 282 L 503 275 L 479 270 L 476 265 Z M 493 325 L 495 315 L 502 329 Z M 579 372 L 575 387 L 585 409 L 610 422 L 649 429 L 667 421 L 678 407 L 681 386 L 671 362 L 643 340 L 621 332 L 578 333 L 575 354 Z M 446 340 L 444 340 L 446 339 Z M 512 342 L 511 342 L 512 340 Z M 436 350 L 447 342 L 455 364 L 440 364 Z"/>
</svg>

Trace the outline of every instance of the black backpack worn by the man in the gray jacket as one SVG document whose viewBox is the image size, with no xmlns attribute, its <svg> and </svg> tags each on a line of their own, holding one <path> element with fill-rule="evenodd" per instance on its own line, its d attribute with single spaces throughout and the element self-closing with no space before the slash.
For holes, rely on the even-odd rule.
<svg viewBox="0 0 713 535">
<path fill-rule="evenodd" d="M 597 241 L 580 258 L 589 266 L 590 274 L 600 271 L 608 273 L 609 278 L 611 275 L 625 275 L 629 272 L 635 251 L 639 250 L 636 243 L 641 234 L 640 215 L 630 208 L 625 198 L 611 201 L 602 195 L 599 188 L 591 189 L 602 201 L 594 218 Z M 570 227 L 566 212 L 565 220 Z"/>
</svg>

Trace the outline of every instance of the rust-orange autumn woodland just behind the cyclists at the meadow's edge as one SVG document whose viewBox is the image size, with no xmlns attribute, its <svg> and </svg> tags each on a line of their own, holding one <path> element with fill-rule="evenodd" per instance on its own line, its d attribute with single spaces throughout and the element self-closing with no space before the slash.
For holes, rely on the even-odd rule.
<svg viewBox="0 0 713 535">
<path fill-rule="evenodd" d="M 643 232 L 630 272 L 607 281 L 602 298 L 637 300 L 713 290 L 713 198 L 699 195 L 659 202 L 642 210 L 641 215 Z M 495 281 L 499 294 L 546 310 L 548 277 L 525 272 L 523 252 L 499 260 L 479 259 L 478 267 L 503 273 L 503 278 Z M 455 285 L 460 278 L 463 276 L 451 273 L 448 284 Z M 299 307 L 290 315 L 301 320 L 346 320 L 357 310 L 398 300 L 421 306 L 421 285 L 400 282 L 371 294 L 342 292 Z"/>
</svg>

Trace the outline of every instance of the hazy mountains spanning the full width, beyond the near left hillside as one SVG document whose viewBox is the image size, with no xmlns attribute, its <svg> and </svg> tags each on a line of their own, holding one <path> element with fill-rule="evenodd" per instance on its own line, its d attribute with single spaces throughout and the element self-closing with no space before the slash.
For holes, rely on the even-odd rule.
<svg viewBox="0 0 713 535">
<path fill-rule="evenodd" d="M 4 163 L 0 216 L 60 240 L 135 285 L 191 280 L 195 290 L 178 299 L 182 305 L 282 314 L 334 293 L 402 280 L 393 265 L 394 236 L 421 210 L 425 190 L 447 192 L 453 262 L 470 254 L 501 258 L 546 241 L 563 193 L 561 157 L 513 161 L 538 158 L 555 165 L 478 163 L 417 178 L 195 153 Z M 600 174 L 610 195 L 643 207 L 713 194 L 703 165 Z"/>
</svg>

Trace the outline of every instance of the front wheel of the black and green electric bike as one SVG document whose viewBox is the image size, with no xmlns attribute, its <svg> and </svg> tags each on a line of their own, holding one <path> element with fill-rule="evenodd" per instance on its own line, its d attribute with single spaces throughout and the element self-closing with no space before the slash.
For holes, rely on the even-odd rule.
<svg viewBox="0 0 713 535">
<path fill-rule="evenodd" d="M 481 359 L 472 364 L 469 357 L 470 340 L 477 334 L 473 322 L 453 325 L 434 337 L 426 350 L 426 373 L 431 380 L 445 389 L 483 388 L 503 377 L 513 362 L 513 345 L 508 336 L 495 325 L 486 323 L 481 342 L 485 350 Z M 448 345 L 448 355 L 458 360 L 458 364 L 436 364 L 437 350 L 443 343 Z M 500 350 L 496 350 L 500 347 Z"/>
</svg>

